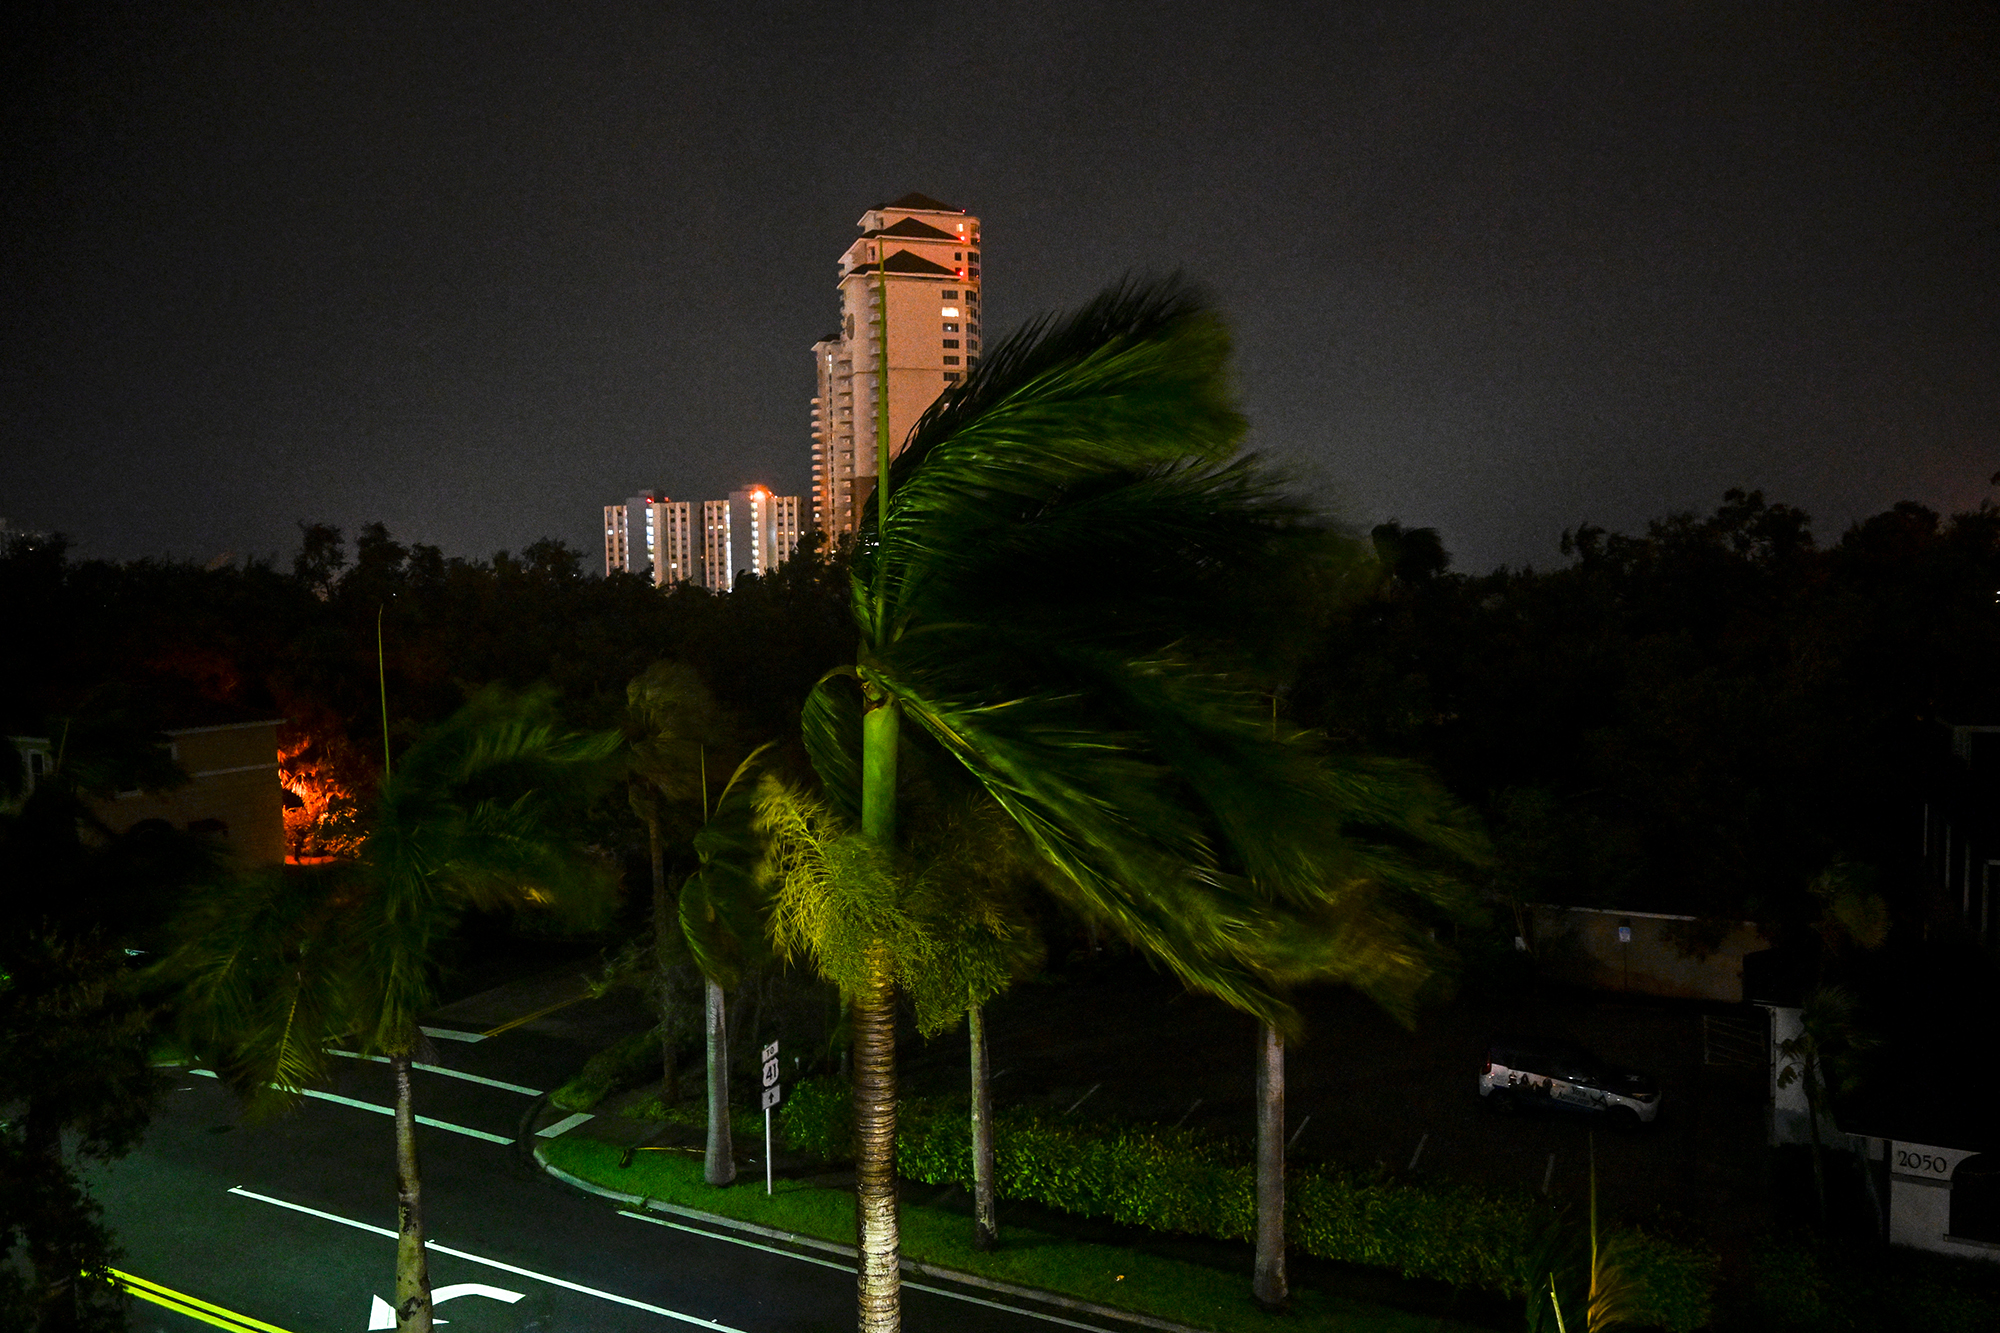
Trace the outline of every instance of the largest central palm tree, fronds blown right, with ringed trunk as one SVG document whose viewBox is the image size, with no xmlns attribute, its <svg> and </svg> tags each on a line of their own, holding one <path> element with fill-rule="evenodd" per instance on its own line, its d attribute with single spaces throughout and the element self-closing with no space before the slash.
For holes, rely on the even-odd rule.
<svg viewBox="0 0 2000 1333">
<path fill-rule="evenodd" d="M 1414 945 L 1376 929 L 1394 891 L 1370 875 L 1380 857 L 1346 837 L 1374 797 L 1308 737 L 1272 735 L 1232 673 L 1270 590 L 1336 544 L 1234 456 L 1226 356 L 1222 322 L 1184 286 L 1108 292 L 940 398 L 870 500 L 858 660 L 806 707 L 828 817 L 860 837 L 820 837 L 836 855 L 794 865 L 856 911 L 820 933 L 846 957 L 816 957 L 852 1003 L 862 1329 L 900 1319 L 892 997 L 936 949 L 916 907 L 926 877 L 896 857 L 906 717 L 1080 915 L 1190 987 L 1290 1031 L 1290 985 L 1406 971 Z M 798 915 L 802 897 L 780 921 L 826 925 Z M 1348 953 L 1362 939 L 1394 943 Z"/>
</svg>

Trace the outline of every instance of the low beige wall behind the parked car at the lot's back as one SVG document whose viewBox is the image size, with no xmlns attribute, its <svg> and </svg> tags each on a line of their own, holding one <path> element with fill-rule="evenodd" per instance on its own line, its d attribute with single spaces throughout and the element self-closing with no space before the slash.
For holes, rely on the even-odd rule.
<svg viewBox="0 0 2000 1333">
<path fill-rule="evenodd" d="M 1742 1003 L 1744 955 L 1766 947 L 1756 925 L 1726 923 L 1720 943 L 1696 957 L 1688 935 L 1698 917 L 1606 913 L 1588 907 L 1534 903 L 1530 945 L 1542 975 L 1600 991 L 1668 995 L 1674 999 Z"/>
</svg>

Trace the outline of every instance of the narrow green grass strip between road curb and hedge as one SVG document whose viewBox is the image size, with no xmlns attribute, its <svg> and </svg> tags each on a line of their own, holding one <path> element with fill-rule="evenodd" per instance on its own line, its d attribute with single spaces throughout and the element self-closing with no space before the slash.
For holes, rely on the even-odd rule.
<svg viewBox="0 0 2000 1333">
<path fill-rule="evenodd" d="M 764 1195 L 762 1181 L 750 1179 L 716 1189 L 702 1181 L 698 1151 L 640 1151 L 634 1153 L 630 1167 L 620 1167 L 624 1149 L 586 1137 L 554 1139 L 542 1153 L 552 1167 L 592 1185 L 822 1241 L 854 1243 L 854 1195 L 846 1189 L 778 1181 L 776 1193 Z M 1474 1329 L 1436 1315 L 1368 1305 L 1310 1287 L 1294 1289 L 1290 1313 L 1268 1315 L 1250 1299 L 1248 1265 L 1242 1273 L 1224 1273 L 1200 1263 L 1026 1227 L 1006 1227 L 1000 1249 L 978 1253 L 972 1249 L 972 1225 L 962 1213 L 908 1199 L 902 1203 L 902 1253 L 906 1259 L 940 1269 L 1040 1287 L 1216 1333 Z"/>
</svg>

